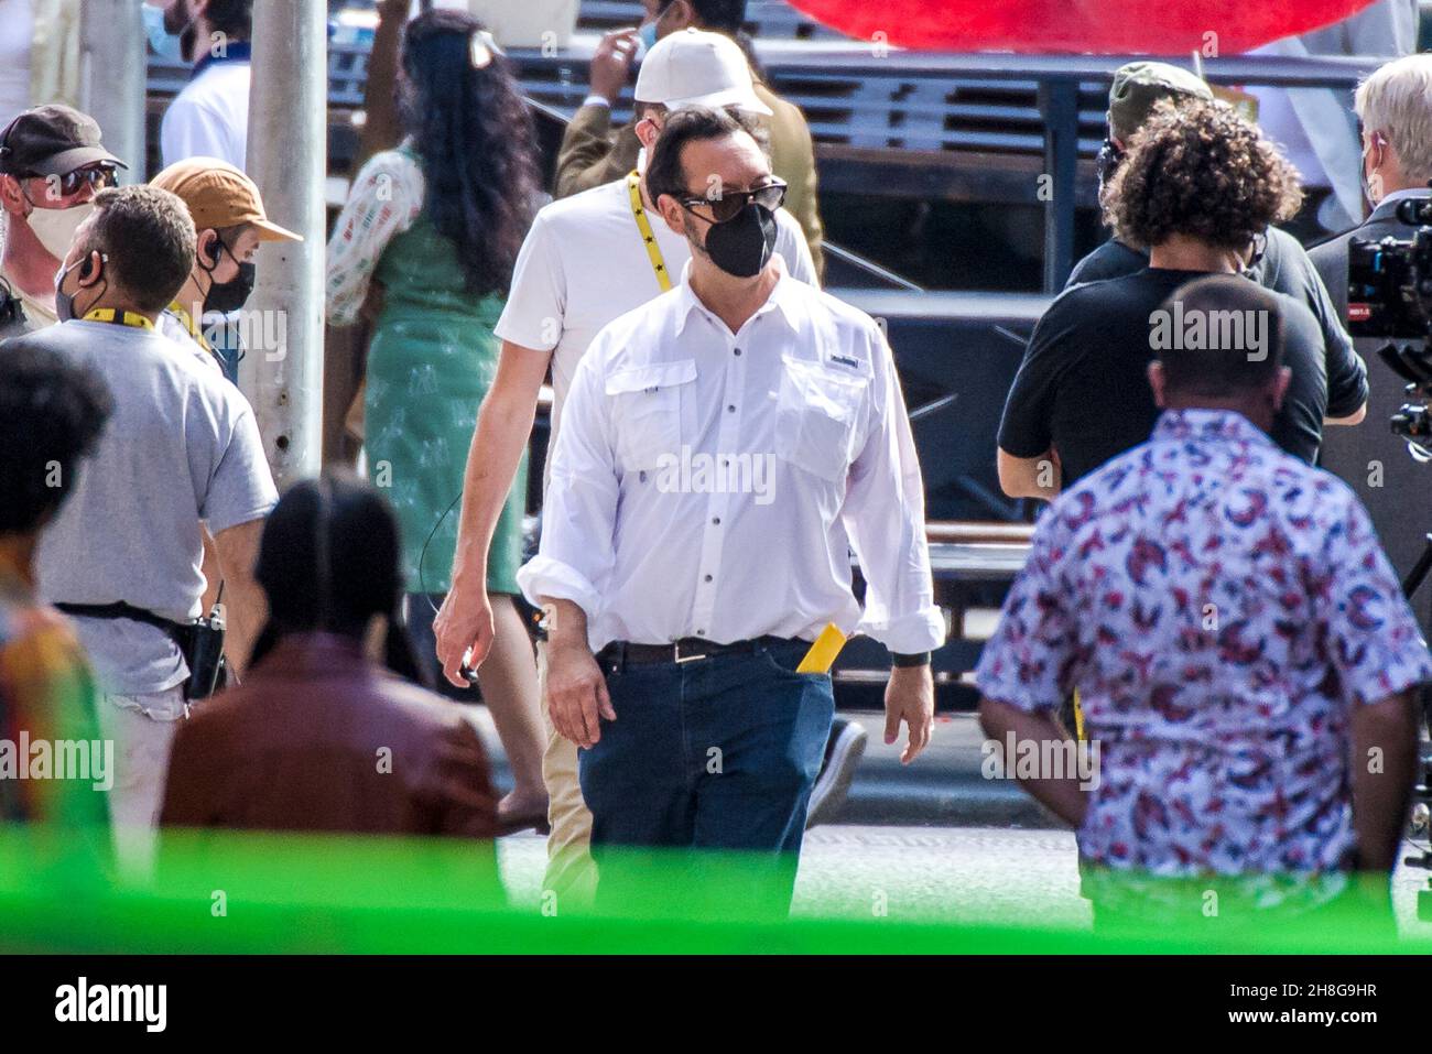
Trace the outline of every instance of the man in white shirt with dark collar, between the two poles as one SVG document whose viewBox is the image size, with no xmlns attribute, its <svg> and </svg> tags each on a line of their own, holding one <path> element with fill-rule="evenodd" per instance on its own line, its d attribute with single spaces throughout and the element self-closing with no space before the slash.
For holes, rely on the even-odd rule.
<svg viewBox="0 0 1432 1054">
<path fill-rule="evenodd" d="M 242 169 L 249 137 L 249 39 L 253 0 L 170 0 L 165 27 L 193 63 L 189 83 L 165 110 L 165 166 L 218 158 Z"/>
</svg>

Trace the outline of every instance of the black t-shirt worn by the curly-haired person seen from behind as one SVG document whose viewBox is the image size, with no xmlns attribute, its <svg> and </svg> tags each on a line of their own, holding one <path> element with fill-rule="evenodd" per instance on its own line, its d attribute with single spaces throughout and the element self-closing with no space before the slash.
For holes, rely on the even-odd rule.
<svg viewBox="0 0 1432 1054">
<path fill-rule="evenodd" d="M 1000 422 L 1000 448 L 1038 457 L 1051 445 L 1061 485 L 1148 438 L 1158 407 L 1148 388 L 1154 357 L 1150 315 L 1200 271 L 1146 268 L 1124 278 L 1065 289 L 1030 337 Z M 1274 294 L 1283 309 L 1283 365 L 1293 371 L 1273 440 L 1312 464 L 1323 417 L 1356 411 L 1368 397 L 1362 359 L 1352 355 L 1323 371 L 1323 335 L 1312 312 Z"/>
</svg>

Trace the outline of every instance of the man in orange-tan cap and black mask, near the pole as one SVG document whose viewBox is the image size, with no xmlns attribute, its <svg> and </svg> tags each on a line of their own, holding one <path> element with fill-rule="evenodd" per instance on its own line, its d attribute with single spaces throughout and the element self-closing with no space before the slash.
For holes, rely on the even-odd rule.
<svg viewBox="0 0 1432 1054">
<path fill-rule="evenodd" d="M 243 306 L 253 292 L 253 253 L 261 242 L 304 241 L 292 231 L 271 223 L 253 180 L 218 158 L 188 158 L 175 162 L 153 179 L 162 190 L 178 195 L 189 206 L 193 226 L 195 262 L 175 302 L 159 319 L 159 331 L 180 342 L 192 339 L 226 372 L 226 362 L 205 337 L 205 315 L 228 315 Z"/>
</svg>

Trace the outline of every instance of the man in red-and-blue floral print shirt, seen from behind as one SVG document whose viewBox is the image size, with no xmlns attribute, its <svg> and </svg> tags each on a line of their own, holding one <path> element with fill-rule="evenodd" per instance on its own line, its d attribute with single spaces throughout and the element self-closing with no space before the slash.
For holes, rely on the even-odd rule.
<svg viewBox="0 0 1432 1054">
<path fill-rule="evenodd" d="M 1432 660 L 1362 504 L 1266 434 L 1277 302 L 1237 276 L 1179 299 L 1184 321 L 1266 312 L 1269 339 L 1158 352 L 1150 441 L 1040 521 L 979 663 L 984 727 L 1060 739 L 1078 692 L 1097 778 L 1018 775 L 1078 826 L 1087 872 L 1390 872 Z"/>
</svg>

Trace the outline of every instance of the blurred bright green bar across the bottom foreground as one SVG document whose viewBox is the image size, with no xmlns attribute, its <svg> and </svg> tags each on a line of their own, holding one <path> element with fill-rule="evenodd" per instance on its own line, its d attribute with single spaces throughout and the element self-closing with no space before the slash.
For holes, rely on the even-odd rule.
<svg viewBox="0 0 1432 1054">
<path fill-rule="evenodd" d="M 102 833 L 102 832 L 92 832 Z M 508 905 L 491 845 L 166 832 L 152 882 L 127 886 L 74 829 L 0 831 L 0 951 L 226 954 L 1118 954 L 1432 952 L 1352 898 L 1316 921 L 1203 918 L 1130 932 L 921 918 L 786 919 L 769 862 L 639 854 L 621 911 Z M 1201 885 L 1201 884 L 1196 884 Z M 1190 888 L 1191 902 L 1199 891 Z M 819 915 L 819 905 L 816 905 Z"/>
</svg>

